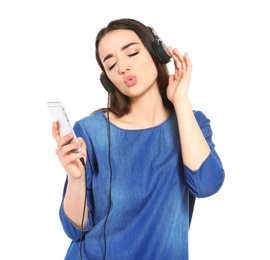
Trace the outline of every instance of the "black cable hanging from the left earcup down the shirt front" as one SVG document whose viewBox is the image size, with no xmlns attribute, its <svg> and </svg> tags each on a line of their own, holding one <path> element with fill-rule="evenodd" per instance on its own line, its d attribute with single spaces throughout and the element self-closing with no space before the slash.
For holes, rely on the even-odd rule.
<svg viewBox="0 0 270 260">
<path fill-rule="evenodd" d="M 109 209 L 104 223 L 104 260 L 106 259 L 107 254 L 107 238 L 106 238 L 106 227 L 108 217 L 111 211 L 111 198 L 112 198 L 112 165 L 111 165 L 111 130 L 110 130 L 110 113 L 109 113 L 109 95 L 107 103 L 107 115 L 108 115 L 108 125 L 107 125 L 107 134 L 108 134 L 108 162 L 110 167 L 110 187 L 109 187 Z"/>
</svg>

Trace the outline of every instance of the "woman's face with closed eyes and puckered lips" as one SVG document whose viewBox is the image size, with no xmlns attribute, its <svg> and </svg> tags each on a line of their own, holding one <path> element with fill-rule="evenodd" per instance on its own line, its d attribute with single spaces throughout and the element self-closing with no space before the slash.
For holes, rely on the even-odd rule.
<svg viewBox="0 0 270 260">
<path fill-rule="evenodd" d="M 134 31 L 107 33 L 98 51 L 108 78 L 124 95 L 132 98 L 157 87 L 155 63 Z"/>
</svg>

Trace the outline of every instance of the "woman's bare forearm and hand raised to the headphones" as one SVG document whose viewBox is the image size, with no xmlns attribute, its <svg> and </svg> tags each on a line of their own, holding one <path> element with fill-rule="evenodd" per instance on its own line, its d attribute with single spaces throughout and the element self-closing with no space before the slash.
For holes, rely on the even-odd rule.
<svg viewBox="0 0 270 260">
<path fill-rule="evenodd" d="M 175 74 L 169 76 L 167 96 L 174 105 L 177 116 L 183 162 L 196 170 L 210 153 L 210 148 L 202 134 L 188 99 L 192 71 L 187 53 L 168 48 L 175 65 Z"/>
</svg>

